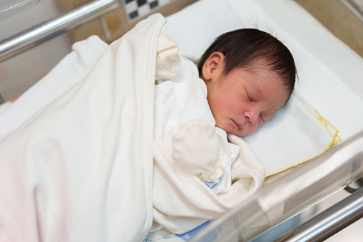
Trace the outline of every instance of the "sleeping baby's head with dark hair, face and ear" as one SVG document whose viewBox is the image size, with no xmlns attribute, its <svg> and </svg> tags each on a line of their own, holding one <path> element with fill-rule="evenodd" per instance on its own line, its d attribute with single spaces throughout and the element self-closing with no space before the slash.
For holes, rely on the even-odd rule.
<svg viewBox="0 0 363 242">
<path fill-rule="evenodd" d="M 287 47 L 257 29 L 223 34 L 198 63 L 216 126 L 247 136 L 282 108 L 295 86 L 296 66 Z"/>
</svg>

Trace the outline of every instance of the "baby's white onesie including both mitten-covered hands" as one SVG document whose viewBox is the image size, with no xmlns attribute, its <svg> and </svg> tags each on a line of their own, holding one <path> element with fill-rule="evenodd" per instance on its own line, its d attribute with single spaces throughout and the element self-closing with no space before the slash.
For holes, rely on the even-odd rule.
<svg viewBox="0 0 363 242">
<path fill-rule="evenodd" d="M 170 150 L 181 172 L 198 176 L 215 193 L 227 192 L 231 164 L 240 147 L 228 143 L 225 131 L 215 127 L 197 66 L 179 58 L 178 46 L 163 34 L 155 79 L 155 136 Z"/>
</svg>

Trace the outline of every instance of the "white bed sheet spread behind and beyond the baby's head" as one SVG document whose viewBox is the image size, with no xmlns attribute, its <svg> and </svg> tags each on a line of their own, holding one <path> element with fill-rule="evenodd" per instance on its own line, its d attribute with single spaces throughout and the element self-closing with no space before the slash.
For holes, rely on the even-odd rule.
<svg viewBox="0 0 363 242">
<path fill-rule="evenodd" d="M 292 51 L 299 75 L 295 89 L 334 124 L 342 140 L 363 130 L 362 58 L 294 1 L 203 0 L 169 16 L 168 23 L 163 33 L 195 61 L 225 31 L 257 27 L 270 32 Z"/>
</svg>

